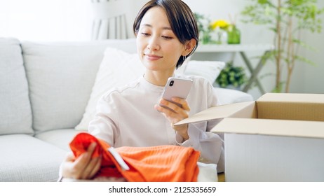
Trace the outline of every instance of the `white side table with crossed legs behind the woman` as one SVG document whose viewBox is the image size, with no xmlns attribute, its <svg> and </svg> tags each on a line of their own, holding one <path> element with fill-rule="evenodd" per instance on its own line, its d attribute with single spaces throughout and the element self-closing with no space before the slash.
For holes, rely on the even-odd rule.
<svg viewBox="0 0 324 196">
<path fill-rule="evenodd" d="M 264 54 L 262 55 L 261 59 L 257 63 L 257 66 L 253 68 L 250 59 L 245 55 L 245 52 L 249 51 L 264 51 Z M 269 52 L 271 50 L 274 50 L 274 45 L 271 44 L 226 44 L 226 45 L 217 45 L 217 44 L 206 44 L 206 45 L 198 45 L 198 48 L 196 49 L 196 52 L 199 53 L 217 53 L 217 52 L 239 52 L 241 57 L 243 58 L 243 61 L 245 62 L 245 65 L 248 67 L 248 70 L 251 73 L 250 79 L 248 80 L 248 83 L 243 87 L 243 92 L 248 92 L 250 89 L 252 83 L 256 83 L 257 87 L 259 88 L 259 91 L 264 94 L 264 88 L 262 87 L 261 83 L 259 82 L 259 79 L 257 78 L 257 75 L 259 74 L 259 71 L 262 69 L 262 66 L 266 63 L 266 60 L 269 59 Z"/>
</svg>

